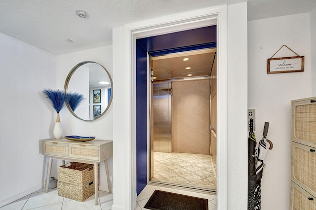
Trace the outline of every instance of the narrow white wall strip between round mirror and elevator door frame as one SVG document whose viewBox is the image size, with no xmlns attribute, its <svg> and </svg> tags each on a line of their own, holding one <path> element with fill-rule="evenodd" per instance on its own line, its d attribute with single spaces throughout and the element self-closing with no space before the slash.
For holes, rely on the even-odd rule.
<svg viewBox="0 0 316 210">
<path fill-rule="evenodd" d="M 126 32 L 125 32 L 126 33 Z M 131 143 L 129 136 L 129 103 L 130 93 L 129 89 L 129 67 L 128 63 L 120 62 L 121 60 L 128 60 L 128 48 L 124 48 L 126 43 L 123 34 L 123 27 L 113 29 L 113 89 L 118 94 L 113 97 L 113 206 L 112 210 L 128 210 L 127 205 L 130 205 L 131 198 L 131 182 L 130 175 L 131 166 L 134 160 L 130 160 L 128 146 Z M 126 91 L 127 90 L 127 91 Z M 115 95 L 114 95 L 115 96 Z M 134 192 L 136 193 L 136 192 Z"/>
</svg>

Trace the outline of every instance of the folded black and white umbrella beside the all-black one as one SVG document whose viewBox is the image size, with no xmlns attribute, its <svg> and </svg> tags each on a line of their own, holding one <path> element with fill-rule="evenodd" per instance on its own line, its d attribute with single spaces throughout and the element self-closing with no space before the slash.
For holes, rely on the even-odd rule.
<svg viewBox="0 0 316 210">
<path fill-rule="evenodd" d="M 273 144 L 270 140 L 267 140 L 268 135 L 268 129 L 269 129 L 269 123 L 265 122 L 265 127 L 263 129 L 263 137 L 262 140 L 259 141 L 258 146 L 258 161 L 256 165 L 256 180 L 261 180 L 262 173 L 263 173 L 263 167 L 264 163 L 263 160 L 265 159 L 267 155 L 268 149 L 272 149 Z"/>
</svg>

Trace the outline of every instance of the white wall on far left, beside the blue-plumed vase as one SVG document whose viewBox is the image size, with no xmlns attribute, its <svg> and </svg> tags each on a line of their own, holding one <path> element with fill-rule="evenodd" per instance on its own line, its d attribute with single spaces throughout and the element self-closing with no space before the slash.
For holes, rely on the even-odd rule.
<svg viewBox="0 0 316 210">
<path fill-rule="evenodd" d="M 56 111 L 42 90 L 56 88 L 55 69 L 55 55 L 0 33 L 0 207 L 43 187 L 40 140 Z"/>
</svg>

